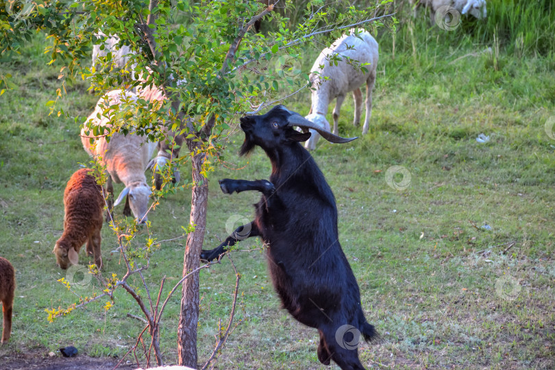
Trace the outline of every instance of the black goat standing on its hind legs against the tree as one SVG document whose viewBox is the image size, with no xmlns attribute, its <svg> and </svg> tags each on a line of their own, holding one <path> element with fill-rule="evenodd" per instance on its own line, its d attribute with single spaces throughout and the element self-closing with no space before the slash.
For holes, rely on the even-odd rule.
<svg viewBox="0 0 555 370">
<path fill-rule="evenodd" d="M 337 208 L 330 186 L 310 153 L 299 142 L 317 130 L 332 143 L 347 143 L 304 119 L 276 106 L 267 114 L 240 119 L 245 132 L 241 155 L 256 145 L 272 163 L 270 181 L 220 181 L 223 193 L 257 190 L 256 218 L 238 227 L 219 247 L 204 251 L 203 260 L 218 258 L 228 246 L 250 236 L 267 245 L 268 265 L 275 291 L 284 308 L 301 323 L 320 334 L 318 359 L 334 360 L 341 369 L 364 369 L 358 359 L 360 335 L 366 341 L 377 336 L 362 312 L 360 292 L 353 271 L 341 249 Z"/>
</svg>

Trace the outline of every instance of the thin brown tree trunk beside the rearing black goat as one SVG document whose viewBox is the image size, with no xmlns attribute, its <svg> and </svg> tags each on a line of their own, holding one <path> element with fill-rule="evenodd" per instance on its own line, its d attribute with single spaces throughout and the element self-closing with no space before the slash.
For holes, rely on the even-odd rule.
<svg viewBox="0 0 555 370">
<path fill-rule="evenodd" d="M 198 148 L 190 148 L 197 151 Z M 208 206 L 208 180 L 201 175 L 205 154 L 197 153 L 193 162 L 193 197 L 190 207 L 190 224 L 195 231 L 187 236 L 183 262 L 183 276 L 197 269 L 206 230 Z M 199 271 L 183 282 L 180 321 L 177 327 L 177 354 L 179 365 L 197 368 L 197 323 L 199 320 Z"/>
</svg>

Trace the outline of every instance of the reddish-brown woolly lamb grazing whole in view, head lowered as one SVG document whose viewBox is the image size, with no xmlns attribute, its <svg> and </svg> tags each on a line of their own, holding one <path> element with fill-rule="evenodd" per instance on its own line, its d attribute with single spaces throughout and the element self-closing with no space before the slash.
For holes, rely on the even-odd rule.
<svg viewBox="0 0 555 370">
<path fill-rule="evenodd" d="M 79 263 L 79 250 L 87 243 L 88 256 L 95 257 L 95 264 L 102 268 L 100 230 L 103 223 L 103 189 L 90 169 L 75 171 L 64 191 L 64 234 L 56 242 L 53 253 L 58 265 L 67 269 Z"/>
</svg>

